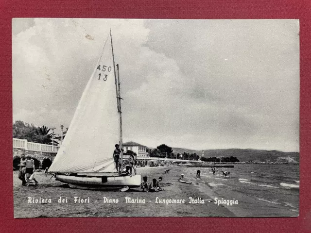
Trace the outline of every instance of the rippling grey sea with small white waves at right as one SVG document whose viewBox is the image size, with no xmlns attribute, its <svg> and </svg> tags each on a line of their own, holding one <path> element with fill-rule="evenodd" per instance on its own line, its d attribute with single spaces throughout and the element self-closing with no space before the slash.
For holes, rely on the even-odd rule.
<svg viewBox="0 0 311 233">
<path fill-rule="evenodd" d="M 238 164 L 233 168 L 218 168 L 215 175 L 212 175 L 210 167 L 197 167 L 191 168 L 191 173 L 196 173 L 197 169 L 201 170 L 202 183 L 219 197 L 228 198 L 240 193 L 256 200 L 259 208 L 260 203 L 270 204 L 288 210 L 293 216 L 298 215 L 298 164 Z M 222 169 L 230 172 L 228 177 L 223 176 Z"/>
</svg>

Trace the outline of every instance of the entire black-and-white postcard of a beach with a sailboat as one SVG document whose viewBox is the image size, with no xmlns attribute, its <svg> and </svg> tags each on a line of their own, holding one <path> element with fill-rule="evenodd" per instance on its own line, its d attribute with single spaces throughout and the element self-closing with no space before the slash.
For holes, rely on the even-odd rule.
<svg viewBox="0 0 311 233">
<path fill-rule="evenodd" d="M 299 20 L 13 18 L 14 216 L 299 215 Z"/>
</svg>

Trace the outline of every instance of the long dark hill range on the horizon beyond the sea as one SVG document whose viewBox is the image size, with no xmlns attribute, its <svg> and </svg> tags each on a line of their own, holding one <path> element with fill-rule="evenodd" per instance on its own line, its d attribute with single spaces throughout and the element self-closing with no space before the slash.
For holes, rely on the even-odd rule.
<svg viewBox="0 0 311 233">
<path fill-rule="evenodd" d="M 185 148 L 172 148 L 173 153 L 197 153 L 202 155 L 202 150 L 191 150 Z M 279 150 L 253 150 L 253 149 L 218 149 L 204 150 L 204 157 L 237 157 L 240 162 L 298 162 L 299 152 L 283 152 Z"/>
</svg>

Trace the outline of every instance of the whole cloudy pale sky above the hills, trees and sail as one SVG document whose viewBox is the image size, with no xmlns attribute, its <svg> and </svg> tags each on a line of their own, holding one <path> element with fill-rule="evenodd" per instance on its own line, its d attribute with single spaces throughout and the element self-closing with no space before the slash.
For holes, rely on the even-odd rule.
<svg viewBox="0 0 311 233">
<path fill-rule="evenodd" d="M 12 19 L 13 122 L 69 127 L 112 31 L 123 142 L 299 151 L 299 22 Z"/>
</svg>

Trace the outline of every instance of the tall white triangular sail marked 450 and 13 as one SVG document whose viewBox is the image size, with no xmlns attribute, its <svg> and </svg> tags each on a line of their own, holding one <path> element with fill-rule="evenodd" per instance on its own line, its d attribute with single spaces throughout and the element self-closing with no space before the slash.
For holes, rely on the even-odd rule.
<svg viewBox="0 0 311 233">
<path fill-rule="evenodd" d="M 50 172 L 116 172 L 113 151 L 119 143 L 119 115 L 108 36 Z"/>
</svg>

